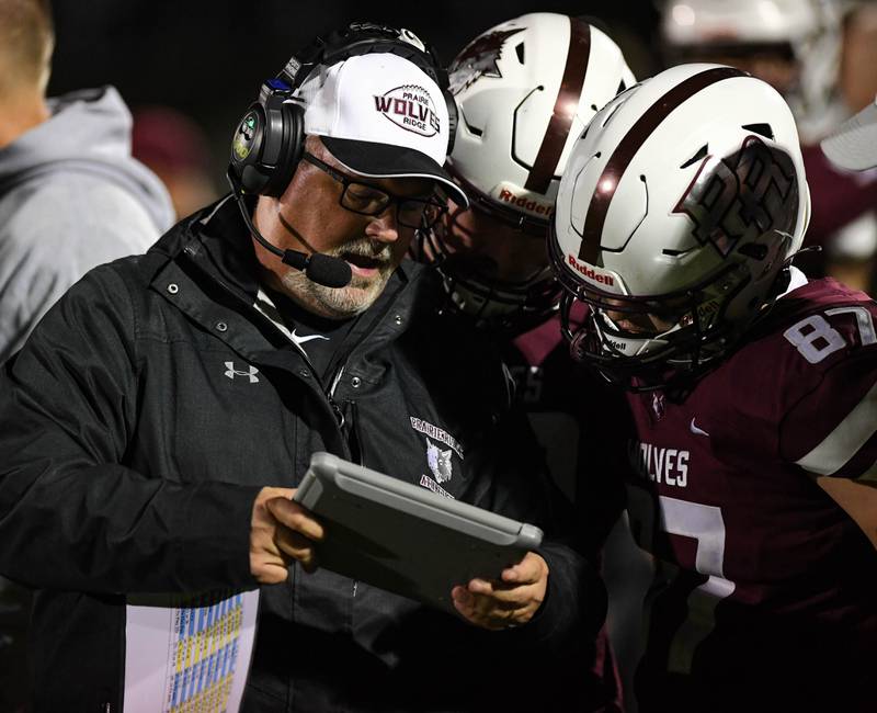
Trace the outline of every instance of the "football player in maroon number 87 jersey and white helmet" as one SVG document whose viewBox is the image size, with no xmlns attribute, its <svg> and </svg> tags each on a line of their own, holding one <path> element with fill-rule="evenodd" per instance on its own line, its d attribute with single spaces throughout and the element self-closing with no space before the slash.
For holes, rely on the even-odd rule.
<svg viewBox="0 0 877 713">
<path fill-rule="evenodd" d="M 788 105 L 727 66 L 622 93 L 567 162 L 565 332 L 628 389 L 659 562 L 640 711 L 874 710 L 877 305 L 791 265 L 808 213 Z"/>
</svg>

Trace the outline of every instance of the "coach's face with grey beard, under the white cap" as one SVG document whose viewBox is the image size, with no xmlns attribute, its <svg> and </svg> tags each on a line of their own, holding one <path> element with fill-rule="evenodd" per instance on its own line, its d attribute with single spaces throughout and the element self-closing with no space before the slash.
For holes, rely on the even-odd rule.
<svg viewBox="0 0 877 713">
<path fill-rule="evenodd" d="M 377 215 L 361 215 L 340 204 L 343 183 L 338 174 L 392 196 L 428 199 L 432 181 L 423 179 L 368 179 L 342 167 L 318 138 L 309 136 L 306 150 L 328 165 L 335 176 L 303 160 L 280 199 L 261 196 L 255 223 L 281 249 L 321 252 L 343 259 L 353 278 L 346 287 L 311 282 L 253 242 L 270 286 L 288 295 L 314 314 L 331 319 L 353 317 L 367 309 L 387 284 L 408 250 L 414 228 L 398 222 L 395 202 Z"/>
</svg>

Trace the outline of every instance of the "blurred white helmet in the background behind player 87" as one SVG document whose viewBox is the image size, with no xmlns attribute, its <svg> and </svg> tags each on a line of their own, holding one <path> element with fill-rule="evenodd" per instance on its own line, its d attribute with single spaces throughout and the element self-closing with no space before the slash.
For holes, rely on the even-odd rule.
<svg viewBox="0 0 877 713">
<path fill-rule="evenodd" d="M 807 142 L 843 118 L 838 78 L 846 0 L 668 0 L 661 35 L 683 61 L 698 53 L 784 50 L 799 68 L 786 100 Z"/>
</svg>

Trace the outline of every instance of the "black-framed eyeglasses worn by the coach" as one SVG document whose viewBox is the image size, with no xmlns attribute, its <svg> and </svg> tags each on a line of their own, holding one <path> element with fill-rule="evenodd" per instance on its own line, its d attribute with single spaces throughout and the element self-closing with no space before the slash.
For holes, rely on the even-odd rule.
<svg viewBox="0 0 877 713">
<path fill-rule="evenodd" d="M 396 219 L 399 225 L 407 228 L 431 228 L 447 212 L 447 205 L 436 197 L 411 199 L 394 195 L 369 183 L 356 181 L 353 177 L 332 168 L 308 151 L 305 151 L 301 158 L 343 185 L 338 202 L 341 207 L 352 213 L 380 215 L 390 204 L 395 203 Z"/>
</svg>

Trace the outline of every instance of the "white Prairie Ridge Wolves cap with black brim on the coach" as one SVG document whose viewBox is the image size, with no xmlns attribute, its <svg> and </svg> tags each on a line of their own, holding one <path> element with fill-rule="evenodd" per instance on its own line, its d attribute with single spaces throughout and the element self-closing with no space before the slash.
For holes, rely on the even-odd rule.
<svg viewBox="0 0 877 713">
<path fill-rule="evenodd" d="M 447 106 L 438 84 L 398 55 L 373 53 L 321 67 L 303 82 L 305 134 L 320 136 L 345 168 L 367 178 L 425 178 L 455 203 L 466 193 L 444 170 Z"/>
</svg>

